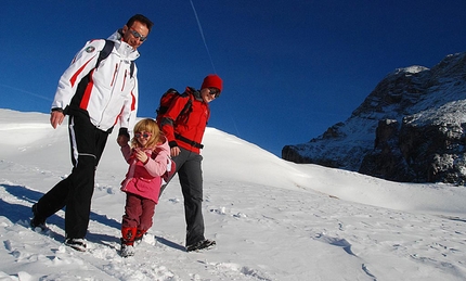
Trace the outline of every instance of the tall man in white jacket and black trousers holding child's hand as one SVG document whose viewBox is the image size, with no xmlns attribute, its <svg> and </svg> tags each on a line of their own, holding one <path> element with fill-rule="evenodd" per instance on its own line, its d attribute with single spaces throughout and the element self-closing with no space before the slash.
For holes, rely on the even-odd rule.
<svg viewBox="0 0 466 281">
<path fill-rule="evenodd" d="M 91 40 L 76 54 L 59 81 L 50 124 L 68 115 L 72 174 L 33 205 L 33 228 L 46 229 L 46 219 L 66 206 L 65 244 L 86 251 L 95 168 L 107 137 L 119 122 L 117 142 L 129 141 L 138 110 L 137 51 L 153 23 L 137 14 L 107 40 Z"/>
</svg>

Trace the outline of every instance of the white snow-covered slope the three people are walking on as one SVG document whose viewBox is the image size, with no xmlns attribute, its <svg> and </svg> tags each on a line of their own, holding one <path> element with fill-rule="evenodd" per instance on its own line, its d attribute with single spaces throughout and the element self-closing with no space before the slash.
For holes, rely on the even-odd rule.
<svg viewBox="0 0 466 281">
<path fill-rule="evenodd" d="M 285 162 L 206 131 L 204 216 L 217 246 L 184 252 L 178 180 L 134 257 L 118 255 L 127 164 L 109 141 L 86 253 L 63 245 L 64 213 L 28 228 L 30 206 L 70 170 L 66 126 L 0 110 L 0 280 L 465 280 L 466 189 L 385 181 Z"/>
</svg>

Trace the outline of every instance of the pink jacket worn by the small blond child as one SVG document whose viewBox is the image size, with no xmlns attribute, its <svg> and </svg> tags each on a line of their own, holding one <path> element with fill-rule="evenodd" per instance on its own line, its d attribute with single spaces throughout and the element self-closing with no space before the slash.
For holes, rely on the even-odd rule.
<svg viewBox="0 0 466 281">
<path fill-rule="evenodd" d="M 126 178 L 121 182 L 121 191 L 150 199 L 157 204 L 161 176 L 167 171 L 167 165 L 171 163 L 168 141 L 165 140 L 155 150 L 145 150 L 148 156 L 145 165 L 134 157 L 133 150 L 129 145 L 122 146 L 121 153 L 129 164 Z"/>
</svg>

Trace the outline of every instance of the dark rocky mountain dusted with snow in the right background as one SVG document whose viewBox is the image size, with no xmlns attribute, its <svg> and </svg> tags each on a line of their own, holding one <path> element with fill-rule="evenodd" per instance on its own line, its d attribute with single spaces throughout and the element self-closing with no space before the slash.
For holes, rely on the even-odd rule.
<svg viewBox="0 0 466 281">
<path fill-rule="evenodd" d="M 351 116 L 282 158 L 393 181 L 466 183 L 466 53 L 388 74 Z"/>
</svg>

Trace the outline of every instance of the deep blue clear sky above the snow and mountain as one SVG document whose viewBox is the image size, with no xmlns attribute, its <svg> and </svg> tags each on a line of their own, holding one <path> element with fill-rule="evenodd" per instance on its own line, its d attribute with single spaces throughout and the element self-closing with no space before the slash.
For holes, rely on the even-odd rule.
<svg viewBox="0 0 466 281">
<path fill-rule="evenodd" d="M 85 42 L 142 13 L 155 26 L 139 49 L 138 115 L 217 73 L 209 126 L 281 156 L 346 120 L 388 73 L 466 50 L 464 0 L 192 2 L 198 22 L 190 0 L 4 1 L 0 107 L 48 113 Z"/>
</svg>

